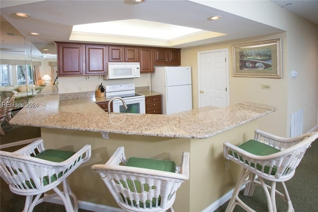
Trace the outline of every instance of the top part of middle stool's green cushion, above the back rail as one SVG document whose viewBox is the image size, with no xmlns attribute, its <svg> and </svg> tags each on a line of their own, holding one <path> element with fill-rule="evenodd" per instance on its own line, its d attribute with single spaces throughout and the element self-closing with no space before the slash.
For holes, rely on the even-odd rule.
<svg viewBox="0 0 318 212">
<path fill-rule="evenodd" d="M 171 160 L 131 157 L 128 159 L 126 166 L 175 172 L 175 163 Z"/>
</svg>

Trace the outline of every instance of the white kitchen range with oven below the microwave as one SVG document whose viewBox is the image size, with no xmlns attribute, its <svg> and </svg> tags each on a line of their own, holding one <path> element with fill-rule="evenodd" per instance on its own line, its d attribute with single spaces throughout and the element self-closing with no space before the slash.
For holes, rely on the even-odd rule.
<svg viewBox="0 0 318 212">
<path fill-rule="evenodd" d="M 113 112 L 115 113 L 146 113 L 145 96 L 135 93 L 135 84 L 106 85 L 106 98 L 119 96 L 128 106 L 123 106 L 119 99 L 113 100 Z"/>
</svg>

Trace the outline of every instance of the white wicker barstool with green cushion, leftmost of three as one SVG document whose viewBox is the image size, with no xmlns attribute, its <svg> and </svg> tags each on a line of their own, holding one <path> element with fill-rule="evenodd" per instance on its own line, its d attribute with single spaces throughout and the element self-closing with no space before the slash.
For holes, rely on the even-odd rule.
<svg viewBox="0 0 318 212">
<path fill-rule="evenodd" d="M 56 196 L 62 199 L 67 212 L 75 212 L 79 204 L 67 177 L 89 160 L 90 148 L 85 145 L 77 152 L 45 150 L 39 139 L 14 152 L 0 151 L 0 176 L 12 193 L 26 196 L 23 212 L 32 212 L 36 205 Z M 63 191 L 57 187 L 60 184 Z M 49 190 L 55 193 L 43 195 Z"/>
</svg>

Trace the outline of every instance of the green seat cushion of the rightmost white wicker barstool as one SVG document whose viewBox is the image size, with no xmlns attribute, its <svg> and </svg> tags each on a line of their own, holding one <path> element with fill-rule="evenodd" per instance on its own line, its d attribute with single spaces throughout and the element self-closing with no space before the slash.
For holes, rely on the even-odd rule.
<svg viewBox="0 0 318 212">
<path fill-rule="evenodd" d="M 276 152 L 279 152 L 280 150 L 277 148 L 274 148 L 270 145 L 267 145 L 265 143 L 259 142 L 259 141 L 255 141 L 255 140 L 249 140 L 246 141 L 242 144 L 240 144 L 238 146 L 239 148 L 251 153 L 251 154 L 255 154 L 255 155 L 259 155 L 259 156 L 265 156 L 265 155 L 270 155 L 270 154 L 274 154 Z M 238 158 L 237 153 L 235 153 L 235 157 Z M 243 158 L 240 157 L 239 158 L 241 161 L 243 161 Z M 248 161 L 245 161 L 245 163 L 248 163 Z M 254 166 L 254 163 L 251 163 L 251 166 Z M 262 166 L 260 164 L 256 164 L 256 168 L 257 170 L 261 171 L 262 170 Z M 269 166 L 265 166 L 264 167 L 264 172 L 268 174 L 269 172 Z M 275 175 L 277 172 L 277 166 L 274 166 L 272 168 L 271 174 Z"/>
</svg>

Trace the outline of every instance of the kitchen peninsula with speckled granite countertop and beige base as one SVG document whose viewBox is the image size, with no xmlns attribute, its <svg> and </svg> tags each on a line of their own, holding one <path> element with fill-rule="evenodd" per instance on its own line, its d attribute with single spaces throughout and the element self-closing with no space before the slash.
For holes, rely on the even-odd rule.
<svg viewBox="0 0 318 212">
<path fill-rule="evenodd" d="M 173 208 L 199 212 L 233 189 L 239 175 L 235 164 L 225 170 L 223 143 L 239 144 L 253 138 L 258 119 L 276 110 L 243 102 L 172 115 L 109 115 L 95 103 L 94 96 L 62 100 L 58 92 L 45 93 L 46 89 L 49 87 L 33 99 L 37 107 L 24 107 L 10 123 L 41 127 L 46 148 L 76 150 L 91 144 L 91 159 L 69 177 L 69 183 L 79 200 L 116 208 L 90 167 L 106 163 L 118 146 L 125 147 L 127 157 L 170 159 L 176 164 L 180 164 L 182 152 L 189 151 L 190 180 L 181 185 Z"/>
</svg>

